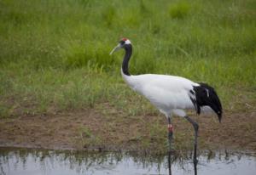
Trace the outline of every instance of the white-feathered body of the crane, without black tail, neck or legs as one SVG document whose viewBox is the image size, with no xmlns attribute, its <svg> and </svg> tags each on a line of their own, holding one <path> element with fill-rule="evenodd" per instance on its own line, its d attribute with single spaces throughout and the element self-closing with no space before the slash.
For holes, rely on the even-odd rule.
<svg viewBox="0 0 256 175">
<path fill-rule="evenodd" d="M 189 98 L 189 90 L 199 86 L 180 76 L 144 74 L 125 76 L 125 82 L 137 93 L 142 94 L 151 104 L 167 116 L 185 116 L 185 109 L 195 109 Z"/>
</svg>

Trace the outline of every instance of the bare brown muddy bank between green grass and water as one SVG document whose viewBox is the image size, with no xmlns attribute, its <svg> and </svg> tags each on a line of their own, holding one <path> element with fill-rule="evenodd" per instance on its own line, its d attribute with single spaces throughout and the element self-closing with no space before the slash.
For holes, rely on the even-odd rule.
<svg viewBox="0 0 256 175">
<path fill-rule="evenodd" d="M 200 125 L 200 149 L 256 150 L 256 112 L 192 116 Z M 193 146 L 188 121 L 173 118 L 177 150 Z M 113 110 L 69 111 L 0 119 L 0 146 L 74 150 L 166 150 L 166 119 L 158 114 L 126 116 Z"/>
</svg>

